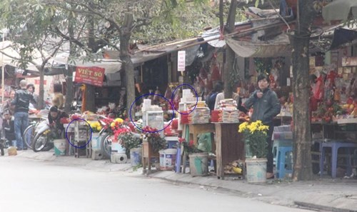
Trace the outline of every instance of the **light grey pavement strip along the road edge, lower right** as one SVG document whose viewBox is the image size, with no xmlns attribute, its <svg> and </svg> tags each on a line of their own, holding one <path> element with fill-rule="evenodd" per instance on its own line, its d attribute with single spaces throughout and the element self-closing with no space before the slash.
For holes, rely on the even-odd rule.
<svg viewBox="0 0 357 212">
<path fill-rule="evenodd" d="M 351 195 L 350 198 L 346 198 L 348 195 L 341 193 L 341 191 L 333 190 L 333 188 L 328 190 L 328 192 L 319 192 L 324 185 L 318 182 L 248 184 L 245 181 L 222 181 L 209 176 L 192 178 L 188 174 L 170 172 L 151 173 L 149 177 L 174 183 L 188 183 L 198 186 L 221 188 L 239 193 L 239 196 L 256 198 L 256 200 L 275 205 L 290 207 L 301 206 L 303 208 L 307 207 L 323 211 L 357 212 L 357 191 Z M 314 185 L 315 183 L 318 185 Z M 325 186 L 328 188 L 329 185 Z M 334 194 L 334 192 L 336 193 Z"/>
</svg>

